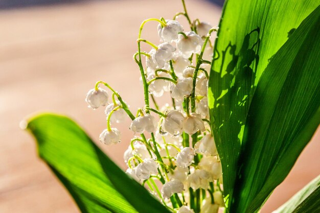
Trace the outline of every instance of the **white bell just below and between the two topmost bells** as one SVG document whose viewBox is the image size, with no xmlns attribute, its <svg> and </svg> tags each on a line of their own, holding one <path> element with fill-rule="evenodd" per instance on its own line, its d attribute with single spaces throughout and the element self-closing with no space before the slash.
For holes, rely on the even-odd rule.
<svg viewBox="0 0 320 213">
<path fill-rule="evenodd" d="M 193 53 L 200 53 L 203 41 L 202 38 L 193 31 L 188 32 L 186 35 L 187 38 L 185 38 L 184 35 L 178 35 L 177 49 L 184 58 L 190 58 Z"/>
</svg>

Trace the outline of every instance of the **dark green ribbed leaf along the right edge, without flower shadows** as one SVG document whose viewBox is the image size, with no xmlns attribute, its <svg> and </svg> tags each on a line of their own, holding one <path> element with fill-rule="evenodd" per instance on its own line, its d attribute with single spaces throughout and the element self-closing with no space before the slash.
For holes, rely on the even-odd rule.
<svg viewBox="0 0 320 213">
<path fill-rule="evenodd" d="M 320 123 L 320 6 L 272 57 L 250 104 L 235 212 L 254 212 L 293 167 Z"/>
</svg>

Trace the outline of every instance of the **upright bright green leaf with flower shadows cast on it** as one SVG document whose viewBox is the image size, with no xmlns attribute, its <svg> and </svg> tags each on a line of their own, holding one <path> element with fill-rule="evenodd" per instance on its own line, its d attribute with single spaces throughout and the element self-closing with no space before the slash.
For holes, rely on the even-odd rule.
<svg viewBox="0 0 320 213">
<path fill-rule="evenodd" d="M 209 108 L 223 169 L 224 194 L 233 199 L 247 113 L 269 59 L 319 0 L 227 0 L 215 42 Z M 249 187 L 249 186 L 248 186 Z"/>
</svg>

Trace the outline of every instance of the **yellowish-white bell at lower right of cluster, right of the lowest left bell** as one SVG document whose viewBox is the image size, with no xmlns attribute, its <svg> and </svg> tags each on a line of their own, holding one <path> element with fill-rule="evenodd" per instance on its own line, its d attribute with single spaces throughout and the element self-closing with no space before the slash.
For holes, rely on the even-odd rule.
<svg viewBox="0 0 320 213">
<path fill-rule="evenodd" d="M 209 182 L 211 182 L 210 180 L 210 173 L 205 170 L 195 170 L 187 178 L 187 181 L 193 190 L 197 190 L 198 188 L 207 190 Z"/>
</svg>

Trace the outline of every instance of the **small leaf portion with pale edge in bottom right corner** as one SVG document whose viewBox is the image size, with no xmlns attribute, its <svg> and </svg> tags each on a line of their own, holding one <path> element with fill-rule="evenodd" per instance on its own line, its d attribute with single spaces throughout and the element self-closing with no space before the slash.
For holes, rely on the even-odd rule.
<svg viewBox="0 0 320 213">
<path fill-rule="evenodd" d="M 320 212 L 320 175 L 272 213 Z"/>
</svg>

